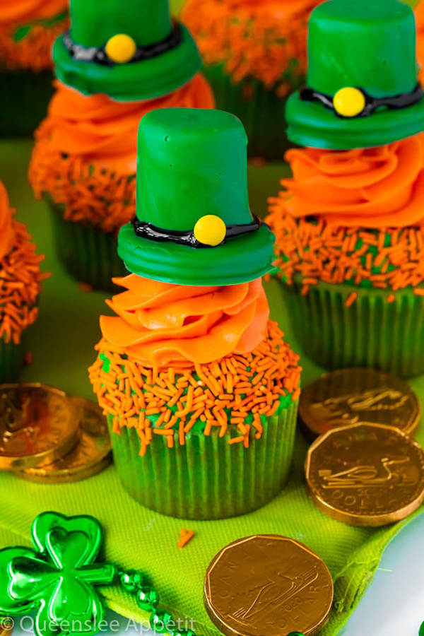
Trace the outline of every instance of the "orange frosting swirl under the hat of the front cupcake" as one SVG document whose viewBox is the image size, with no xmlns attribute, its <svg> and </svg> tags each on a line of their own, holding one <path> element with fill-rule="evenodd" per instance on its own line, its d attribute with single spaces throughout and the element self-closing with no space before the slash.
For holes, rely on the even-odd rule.
<svg viewBox="0 0 424 636">
<path fill-rule="evenodd" d="M 266 335 L 269 306 L 261 279 L 227 287 L 185 287 L 135 274 L 117 278 L 126 291 L 102 316 L 110 345 L 155 367 L 192 366 L 249 353 Z"/>
</svg>

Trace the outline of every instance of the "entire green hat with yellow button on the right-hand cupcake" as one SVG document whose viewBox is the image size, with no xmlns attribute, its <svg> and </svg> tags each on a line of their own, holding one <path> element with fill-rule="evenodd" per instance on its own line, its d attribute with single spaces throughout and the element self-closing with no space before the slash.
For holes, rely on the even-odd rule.
<svg viewBox="0 0 424 636">
<path fill-rule="evenodd" d="M 382 146 L 424 129 L 416 25 L 401 0 L 329 0 L 312 11 L 307 86 L 290 97 L 301 146 Z"/>
</svg>

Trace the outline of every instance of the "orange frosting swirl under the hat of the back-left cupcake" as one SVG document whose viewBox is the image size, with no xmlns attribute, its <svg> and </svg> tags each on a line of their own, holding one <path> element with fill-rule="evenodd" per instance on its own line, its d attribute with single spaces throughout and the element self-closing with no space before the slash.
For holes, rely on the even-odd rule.
<svg viewBox="0 0 424 636">
<path fill-rule="evenodd" d="M 47 141 L 45 152 L 65 153 L 84 161 L 100 161 L 109 167 L 135 172 L 137 130 L 141 117 L 157 108 L 213 108 L 211 88 L 198 73 L 170 95 L 140 102 L 116 102 L 107 95 L 81 95 L 59 81 L 47 119 L 35 133 Z M 54 170 L 54 165 L 52 165 Z"/>
</svg>

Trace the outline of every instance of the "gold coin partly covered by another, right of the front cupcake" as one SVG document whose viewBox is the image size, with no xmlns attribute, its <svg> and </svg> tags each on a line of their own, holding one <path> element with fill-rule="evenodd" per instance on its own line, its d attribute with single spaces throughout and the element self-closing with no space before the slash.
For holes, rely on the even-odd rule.
<svg viewBox="0 0 424 636">
<path fill-rule="evenodd" d="M 358 422 L 395 426 L 411 435 L 420 421 L 421 405 L 406 382 L 358 367 L 326 373 L 305 387 L 299 417 L 310 437 Z"/>
</svg>

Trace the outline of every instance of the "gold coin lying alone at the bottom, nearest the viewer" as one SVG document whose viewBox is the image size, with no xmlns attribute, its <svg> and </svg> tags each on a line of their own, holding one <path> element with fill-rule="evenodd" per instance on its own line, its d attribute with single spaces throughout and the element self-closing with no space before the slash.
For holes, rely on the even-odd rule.
<svg viewBox="0 0 424 636">
<path fill-rule="evenodd" d="M 314 636 L 332 601 L 325 563 L 284 536 L 240 538 L 220 550 L 206 572 L 206 611 L 225 636 Z"/>
</svg>

